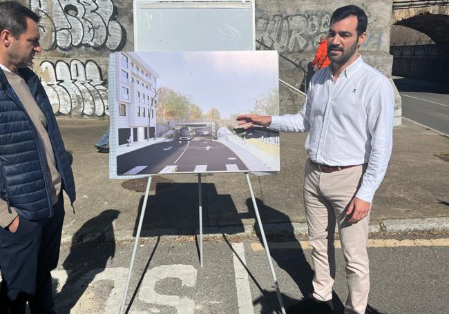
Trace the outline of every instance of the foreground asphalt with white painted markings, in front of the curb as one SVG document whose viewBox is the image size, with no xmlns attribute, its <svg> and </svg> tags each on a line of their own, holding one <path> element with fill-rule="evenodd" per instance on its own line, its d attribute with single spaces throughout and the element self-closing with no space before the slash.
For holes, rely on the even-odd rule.
<svg viewBox="0 0 449 314">
<path fill-rule="evenodd" d="M 337 242 L 338 246 L 338 242 Z M 293 235 L 269 242 L 285 306 L 310 293 L 310 249 Z M 52 275 L 58 313 L 119 313 L 128 273 L 131 242 L 66 245 Z M 371 239 L 370 314 L 448 313 L 449 239 Z M 336 249 L 334 306 L 343 313 L 347 285 L 343 255 Z M 200 268 L 193 239 L 142 241 L 128 293 L 127 313 L 280 313 L 267 257 L 257 237 L 204 243 Z"/>
</svg>

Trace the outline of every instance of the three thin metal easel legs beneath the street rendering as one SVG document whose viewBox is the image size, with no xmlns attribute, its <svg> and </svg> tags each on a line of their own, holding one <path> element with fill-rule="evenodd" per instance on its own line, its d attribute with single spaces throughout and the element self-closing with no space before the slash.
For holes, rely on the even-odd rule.
<svg viewBox="0 0 449 314">
<path fill-rule="evenodd" d="M 280 294 L 279 290 L 279 284 L 278 279 L 276 278 L 276 273 L 274 272 L 273 262 L 271 261 L 271 255 L 269 253 L 269 248 L 267 244 L 267 238 L 265 237 L 265 231 L 263 230 L 262 226 L 262 220 L 260 219 L 258 206 L 256 203 L 256 198 L 254 197 L 254 191 L 253 187 L 251 186 L 251 181 L 249 179 L 249 173 L 245 173 L 245 177 L 247 179 L 247 184 L 249 188 L 249 193 L 251 194 L 251 199 L 253 201 L 254 206 L 254 212 L 256 213 L 256 219 L 260 230 L 260 235 L 262 235 L 262 242 L 263 246 L 265 247 L 265 253 L 267 253 L 267 259 L 269 268 L 271 270 L 271 276 L 273 277 L 274 286 L 276 287 L 276 294 L 278 295 L 278 301 L 280 305 L 280 311 L 285 314 L 285 308 L 284 308 L 284 302 L 282 299 L 282 295 Z M 140 219 L 139 219 L 139 226 L 137 226 L 137 233 L 135 235 L 135 242 L 134 242 L 134 248 L 133 248 L 133 255 L 131 255 L 131 263 L 129 264 L 129 271 L 128 271 L 128 277 L 126 278 L 126 286 L 125 291 L 123 295 L 122 305 L 120 306 L 120 314 L 123 314 L 125 311 L 125 304 L 126 304 L 126 295 L 128 295 L 128 288 L 129 283 L 131 282 L 131 277 L 133 275 L 133 266 L 134 266 L 134 260 L 135 260 L 135 254 L 137 253 L 137 246 L 139 245 L 139 239 L 140 239 L 140 232 L 142 231 L 142 223 L 144 222 L 144 216 L 145 216 L 145 210 L 146 210 L 146 202 L 148 201 L 148 195 L 150 193 L 150 186 L 151 186 L 151 179 L 153 179 L 152 176 L 148 177 L 148 181 L 146 183 L 146 190 L 145 190 L 145 197 L 144 197 L 144 204 L 142 204 L 142 210 L 140 211 Z M 200 267 L 203 268 L 203 254 L 202 254 L 202 188 L 201 188 L 201 173 L 198 173 L 198 211 L 200 216 Z"/>
</svg>

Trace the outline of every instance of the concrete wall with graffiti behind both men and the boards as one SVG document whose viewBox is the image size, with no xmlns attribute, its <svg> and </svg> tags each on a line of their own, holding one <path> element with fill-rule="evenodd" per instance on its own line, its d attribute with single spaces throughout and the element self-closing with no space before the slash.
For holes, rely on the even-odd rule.
<svg viewBox="0 0 449 314">
<path fill-rule="evenodd" d="M 307 67 L 318 37 L 329 28 L 332 12 L 351 3 L 361 6 L 369 17 L 363 59 L 390 76 L 392 0 L 256 0 L 256 37 Z M 23 4 L 39 10 L 42 17 L 45 51 L 35 59 L 34 70 L 46 86 L 55 112 L 107 117 L 108 54 L 133 50 L 133 1 L 30 0 Z M 280 71 L 281 77 L 292 84 L 303 80 L 303 72 L 287 61 L 280 61 Z M 303 104 L 302 97 L 283 85 L 280 99 L 280 113 L 297 112 Z M 400 124 L 399 94 L 395 117 L 395 124 Z"/>
</svg>

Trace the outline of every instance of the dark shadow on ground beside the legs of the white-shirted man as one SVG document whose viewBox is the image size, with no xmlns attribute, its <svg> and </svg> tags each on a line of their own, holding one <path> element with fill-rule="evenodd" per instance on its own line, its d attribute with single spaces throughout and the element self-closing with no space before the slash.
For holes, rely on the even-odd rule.
<svg viewBox="0 0 449 314">
<path fill-rule="evenodd" d="M 247 199 L 246 204 L 250 215 L 255 216 L 252 199 Z M 282 268 L 286 273 L 289 274 L 289 276 L 298 286 L 298 289 L 303 296 L 312 293 L 312 279 L 314 278 L 314 270 L 312 269 L 312 266 L 310 266 L 309 262 L 307 262 L 304 249 L 298 239 L 296 239 L 295 237 L 294 227 L 291 220 L 284 213 L 281 213 L 280 211 L 265 205 L 264 202 L 262 202 L 262 200 L 260 199 L 256 199 L 256 204 L 260 213 L 262 224 L 264 222 L 287 222 L 284 225 L 282 235 L 279 235 L 278 232 L 270 232 L 270 230 L 265 228 L 264 226 L 265 237 L 267 238 L 268 243 L 289 243 L 288 248 L 271 249 L 271 257 L 280 268 Z M 260 244 L 263 245 L 262 235 L 260 234 L 260 228 L 258 227 L 257 223 L 254 226 L 254 230 L 256 230 L 256 235 L 259 238 Z M 334 300 L 335 313 L 340 313 L 339 311 L 343 311 L 343 302 L 341 302 L 338 295 L 336 295 L 336 293 L 333 293 L 332 298 Z M 290 297 L 286 297 L 283 300 L 285 308 L 298 302 L 298 300 L 294 300 Z M 276 291 L 274 291 L 274 293 L 267 293 L 266 295 L 264 294 L 257 300 L 257 302 L 262 306 L 261 313 L 271 313 L 272 311 L 278 310 L 278 308 L 276 307 L 278 305 Z"/>
</svg>

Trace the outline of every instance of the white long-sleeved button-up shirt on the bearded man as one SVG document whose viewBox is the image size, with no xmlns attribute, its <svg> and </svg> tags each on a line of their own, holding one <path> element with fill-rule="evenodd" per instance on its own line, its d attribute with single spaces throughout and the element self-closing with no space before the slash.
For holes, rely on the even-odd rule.
<svg viewBox="0 0 449 314">
<path fill-rule="evenodd" d="M 315 73 L 303 109 L 271 117 L 269 128 L 307 132 L 309 158 L 328 166 L 367 163 L 356 197 L 372 202 L 392 150 L 394 91 L 390 81 L 359 57 L 334 82 L 331 66 Z"/>
</svg>

